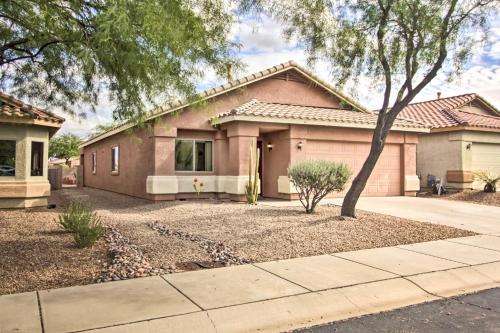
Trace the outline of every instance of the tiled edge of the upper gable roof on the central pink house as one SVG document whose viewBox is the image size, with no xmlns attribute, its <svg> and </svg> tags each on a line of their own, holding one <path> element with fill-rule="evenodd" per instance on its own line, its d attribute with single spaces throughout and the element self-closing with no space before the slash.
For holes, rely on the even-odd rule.
<svg viewBox="0 0 500 333">
<path fill-rule="evenodd" d="M 304 74 L 306 77 L 308 77 L 310 80 L 314 81 L 316 84 L 318 84 L 323 89 L 327 90 L 329 93 L 337 96 L 340 100 L 343 100 L 343 101 L 347 102 L 348 104 L 352 105 L 354 109 L 361 111 L 361 112 L 364 112 L 364 113 L 371 113 L 363 105 L 361 105 L 360 103 L 358 103 L 354 99 L 344 95 L 343 93 L 339 92 L 337 89 L 335 89 L 329 83 L 321 80 L 316 75 L 314 75 L 312 72 L 301 67 L 295 61 L 292 61 L 292 60 L 287 61 L 285 63 L 281 63 L 279 65 L 276 65 L 276 66 L 273 66 L 270 68 L 267 68 L 267 69 L 264 69 L 262 71 L 254 73 L 254 74 L 250 74 L 250 75 L 244 76 L 242 78 L 232 80 L 226 84 L 217 86 L 215 88 L 205 90 L 201 93 L 198 93 L 195 96 L 194 100 L 195 101 L 199 101 L 199 100 L 204 101 L 204 100 L 216 97 L 218 95 L 230 92 L 232 90 L 244 87 L 244 86 L 249 85 L 251 83 L 254 83 L 254 82 L 263 80 L 265 78 L 271 77 L 277 73 L 288 71 L 290 69 L 294 69 L 297 72 Z M 188 107 L 191 104 L 192 104 L 192 102 L 189 102 L 189 101 L 183 101 L 183 100 L 173 101 L 171 103 L 168 103 L 168 104 L 160 107 L 159 109 L 155 109 L 155 110 L 152 110 L 151 112 L 149 112 L 149 114 L 146 117 L 146 120 L 151 120 L 151 119 L 160 117 L 162 115 L 169 114 L 171 112 Z M 114 135 L 116 133 L 120 133 L 121 131 L 124 131 L 128 128 L 134 127 L 134 125 L 135 124 L 133 124 L 133 123 L 120 124 L 120 125 L 114 127 L 113 129 L 110 129 L 109 131 L 107 131 L 105 133 L 102 133 L 96 137 L 93 137 L 93 138 L 83 142 L 80 145 L 80 147 L 85 147 L 85 146 L 92 144 L 94 142 L 97 142 L 103 138 Z"/>
</svg>

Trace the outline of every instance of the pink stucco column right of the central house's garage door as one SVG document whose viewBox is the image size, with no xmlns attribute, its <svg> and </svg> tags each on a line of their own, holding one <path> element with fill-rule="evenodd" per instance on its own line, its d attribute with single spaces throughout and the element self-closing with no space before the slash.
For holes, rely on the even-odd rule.
<svg viewBox="0 0 500 333">
<path fill-rule="evenodd" d="M 402 145 L 403 187 L 405 196 L 415 196 L 420 190 L 420 180 L 417 176 L 417 143 L 416 134 L 405 134 Z"/>
</svg>

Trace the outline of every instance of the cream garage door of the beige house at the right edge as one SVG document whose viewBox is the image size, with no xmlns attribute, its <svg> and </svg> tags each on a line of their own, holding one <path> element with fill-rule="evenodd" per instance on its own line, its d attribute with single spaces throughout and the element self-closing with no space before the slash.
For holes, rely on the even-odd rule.
<svg viewBox="0 0 500 333">
<path fill-rule="evenodd" d="M 472 143 L 472 168 L 473 171 L 489 171 L 500 174 L 500 144 Z M 475 189 L 482 189 L 484 184 L 474 182 Z"/>
</svg>

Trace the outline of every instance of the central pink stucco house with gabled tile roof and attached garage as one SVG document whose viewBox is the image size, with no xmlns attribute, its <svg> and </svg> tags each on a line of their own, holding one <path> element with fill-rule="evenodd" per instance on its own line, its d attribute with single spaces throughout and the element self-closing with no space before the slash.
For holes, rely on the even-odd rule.
<svg viewBox="0 0 500 333">
<path fill-rule="evenodd" d="M 245 200 L 249 146 L 257 144 L 264 197 L 293 199 L 290 163 L 327 159 L 358 172 L 377 117 L 294 62 L 153 112 L 149 129 L 122 125 L 81 144 L 86 186 L 151 200 L 203 195 Z M 156 121 L 153 121 L 156 120 Z M 363 195 L 415 195 L 416 144 L 428 127 L 396 120 Z"/>
</svg>

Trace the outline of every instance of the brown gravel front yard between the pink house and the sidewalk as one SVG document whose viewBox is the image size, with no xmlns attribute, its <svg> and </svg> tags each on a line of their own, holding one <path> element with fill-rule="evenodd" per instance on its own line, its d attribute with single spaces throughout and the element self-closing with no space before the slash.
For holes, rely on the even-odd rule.
<svg viewBox="0 0 500 333">
<path fill-rule="evenodd" d="M 74 247 L 55 222 L 68 200 L 97 211 L 105 240 Z M 215 200 L 152 203 L 90 188 L 56 191 L 51 201 L 56 210 L 0 210 L 0 294 L 473 234 L 366 212 L 343 219 L 337 206 L 307 215 Z"/>
</svg>

